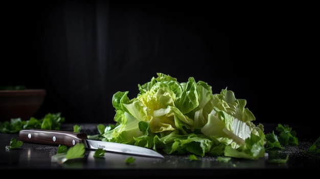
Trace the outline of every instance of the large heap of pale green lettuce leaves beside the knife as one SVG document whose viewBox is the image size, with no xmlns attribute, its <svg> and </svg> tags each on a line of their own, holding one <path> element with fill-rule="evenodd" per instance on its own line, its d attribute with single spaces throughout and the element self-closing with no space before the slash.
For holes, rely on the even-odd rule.
<svg viewBox="0 0 320 179">
<path fill-rule="evenodd" d="M 265 153 L 262 124 L 245 108 L 245 99 L 233 91 L 212 87 L 193 77 L 179 83 L 157 73 L 150 82 L 138 84 L 139 94 L 128 91 L 112 96 L 115 127 L 102 134 L 104 141 L 126 143 L 166 154 L 194 154 L 259 159 Z"/>
</svg>

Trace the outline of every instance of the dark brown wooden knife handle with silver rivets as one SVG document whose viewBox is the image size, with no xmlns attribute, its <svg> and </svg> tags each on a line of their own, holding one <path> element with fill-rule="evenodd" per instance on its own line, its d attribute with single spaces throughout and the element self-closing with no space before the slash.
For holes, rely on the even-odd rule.
<svg viewBox="0 0 320 179">
<path fill-rule="evenodd" d="M 84 143 L 87 147 L 87 135 L 85 133 L 75 133 L 70 131 L 57 131 L 57 130 L 20 130 L 19 139 L 23 142 L 49 144 L 49 145 L 65 145 L 72 147 L 77 143 Z"/>
</svg>

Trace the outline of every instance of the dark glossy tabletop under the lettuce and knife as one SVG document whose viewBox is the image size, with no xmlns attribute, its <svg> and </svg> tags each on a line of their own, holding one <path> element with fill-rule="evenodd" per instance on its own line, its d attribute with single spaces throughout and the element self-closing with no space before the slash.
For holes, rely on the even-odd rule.
<svg viewBox="0 0 320 179">
<path fill-rule="evenodd" d="M 73 131 L 74 124 L 62 124 L 61 130 Z M 82 131 L 88 135 L 98 134 L 97 124 L 78 124 Z M 276 131 L 277 124 L 264 124 L 265 133 Z M 290 173 L 299 170 L 316 172 L 320 169 L 320 155 L 314 152 L 306 152 L 309 146 L 319 137 L 316 127 L 290 124 L 299 138 L 298 146 L 286 146 L 278 150 L 279 156 L 289 154 L 286 163 L 270 163 L 270 154 L 258 160 L 231 159 L 230 161 L 218 162 L 216 157 L 204 156 L 199 160 L 189 160 L 188 155 L 166 155 L 165 159 L 134 156 L 134 163 L 127 164 L 125 160 L 129 155 L 106 152 L 103 158 L 94 158 L 94 150 L 86 150 L 83 159 L 77 159 L 63 164 L 51 161 L 51 156 L 57 152 L 57 146 L 42 145 L 24 142 L 18 149 L 6 150 L 12 137 L 18 139 L 18 134 L 0 134 L 0 169 L 12 171 L 49 170 L 50 175 L 59 175 L 60 170 L 71 171 L 77 174 L 94 173 L 98 175 L 154 175 L 154 176 L 217 176 L 239 175 L 253 171 L 260 174 L 270 174 L 273 170 L 282 169 Z M 15 174 L 21 174 L 18 172 Z M 170 174 L 169 174 L 170 173 Z M 286 173 L 286 172 L 285 172 Z"/>
</svg>

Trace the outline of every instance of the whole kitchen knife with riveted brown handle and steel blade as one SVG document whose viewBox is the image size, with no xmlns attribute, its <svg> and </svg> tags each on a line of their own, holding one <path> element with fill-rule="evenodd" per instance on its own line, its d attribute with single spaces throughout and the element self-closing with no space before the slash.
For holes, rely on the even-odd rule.
<svg viewBox="0 0 320 179">
<path fill-rule="evenodd" d="M 106 151 L 117 152 L 121 154 L 164 159 L 164 156 L 162 156 L 158 152 L 149 148 L 129 145 L 129 144 L 116 143 L 116 142 L 88 140 L 87 135 L 85 133 L 30 129 L 30 130 L 20 130 L 19 139 L 23 142 L 49 144 L 49 145 L 61 144 L 68 147 L 72 147 L 77 143 L 83 143 L 84 147 L 88 149 L 102 148 Z"/>
</svg>

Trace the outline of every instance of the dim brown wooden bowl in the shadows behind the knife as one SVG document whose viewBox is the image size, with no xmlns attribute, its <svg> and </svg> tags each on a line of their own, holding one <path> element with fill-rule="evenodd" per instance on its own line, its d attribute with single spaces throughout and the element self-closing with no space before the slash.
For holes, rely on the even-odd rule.
<svg viewBox="0 0 320 179">
<path fill-rule="evenodd" d="M 0 90 L 0 121 L 29 120 L 42 106 L 44 89 Z"/>
</svg>

